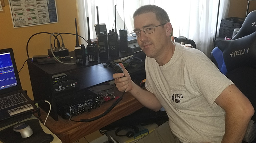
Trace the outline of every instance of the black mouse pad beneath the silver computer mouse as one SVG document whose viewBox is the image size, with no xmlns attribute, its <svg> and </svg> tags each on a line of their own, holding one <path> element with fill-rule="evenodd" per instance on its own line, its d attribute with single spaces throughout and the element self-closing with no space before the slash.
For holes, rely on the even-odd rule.
<svg viewBox="0 0 256 143">
<path fill-rule="evenodd" d="M 3 143 L 49 143 L 53 140 L 51 134 L 46 134 L 37 119 L 24 121 L 33 130 L 33 134 L 28 138 L 22 138 L 19 132 L 13 131 L 13 126 L 0 131 L 0 140 Z"/>
</svg>

